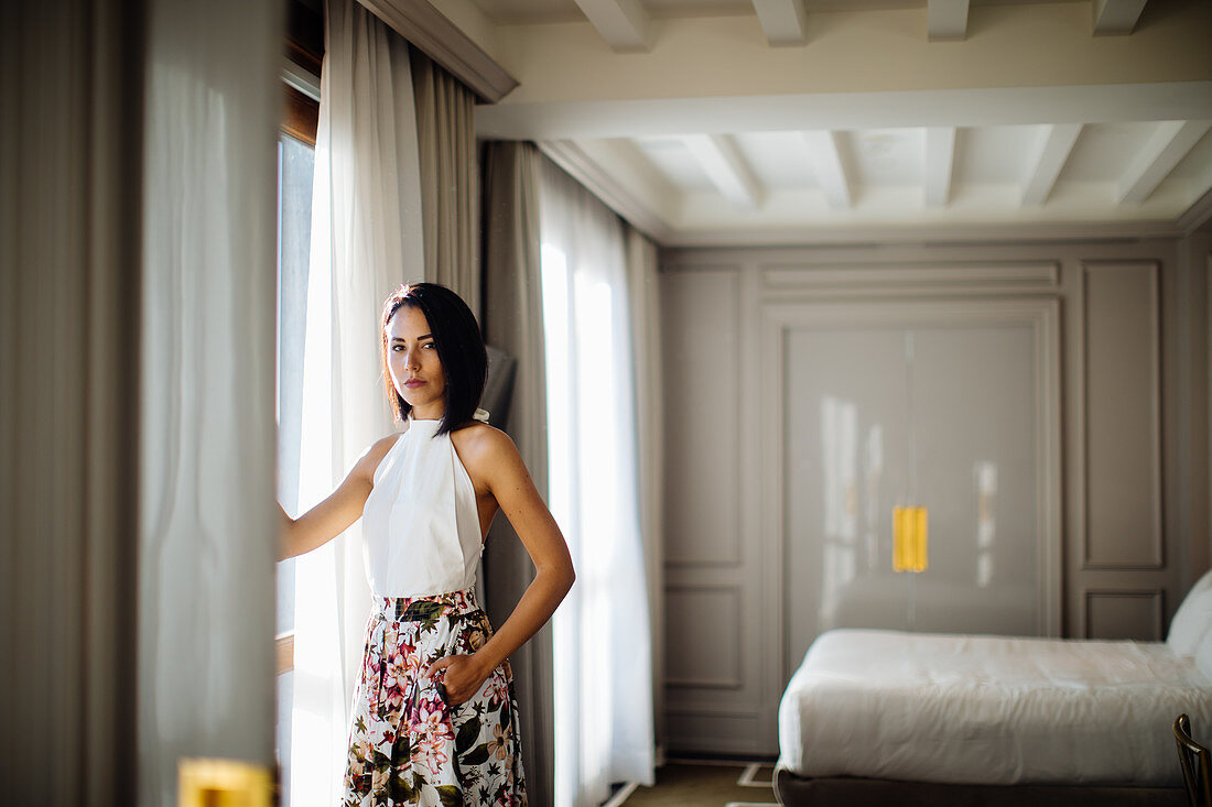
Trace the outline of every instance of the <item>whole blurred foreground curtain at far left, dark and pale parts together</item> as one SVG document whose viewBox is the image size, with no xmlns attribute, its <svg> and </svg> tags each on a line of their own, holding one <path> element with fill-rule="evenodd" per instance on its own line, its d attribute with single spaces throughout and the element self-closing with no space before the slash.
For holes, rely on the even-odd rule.
<svg viewBox="0 0 1212 807">
<path fill-rule="evenodd" d="M 274 2 L 0 4 L 0 790 L 273 766 Z"/>
</svg>

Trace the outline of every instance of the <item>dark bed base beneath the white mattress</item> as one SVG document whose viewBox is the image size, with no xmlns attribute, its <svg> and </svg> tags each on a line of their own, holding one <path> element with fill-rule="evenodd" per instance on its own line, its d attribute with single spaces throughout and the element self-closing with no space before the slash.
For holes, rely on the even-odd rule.
<svg viewBox="0 0 1212 807">
<path fill-rule="evenodd" d="M 787 807 L 1187 807 L 1182 788 L 960 785 L 857 777 L 806 779 L 785 768 L 774 794 Z"/>
</svg>

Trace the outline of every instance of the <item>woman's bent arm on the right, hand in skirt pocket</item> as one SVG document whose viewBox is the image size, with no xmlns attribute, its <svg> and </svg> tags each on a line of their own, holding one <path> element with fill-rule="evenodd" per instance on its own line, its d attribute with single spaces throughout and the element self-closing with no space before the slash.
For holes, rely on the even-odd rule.
<svg viewBox="0 0 1212 807">
<path fill-rule="evenodd" d="M 475 465 L 476 475 L 485 481 L 521 538 L 537 574 L 509 618 L 474 656 L 448 656 L 429 668 L 429 674 L 446 669 L 444 683 L 452 704 L 474 696 L 492 670 L 538 633 L 576 579 L 568 545 L 534 490 L 514 441 L 496 429 L 485 429 L 467 452 L 467 459 Z"/>
</svg>

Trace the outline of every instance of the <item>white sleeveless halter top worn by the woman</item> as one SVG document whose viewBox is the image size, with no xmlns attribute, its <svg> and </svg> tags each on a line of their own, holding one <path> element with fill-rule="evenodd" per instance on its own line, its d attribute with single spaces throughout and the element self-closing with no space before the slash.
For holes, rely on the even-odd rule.
<svg viewBox="0 0 1212 807">
<path fill-rule="evenodd" d="M 475 488 L 450 435 L 438 435 L 440 423 L 410 420 L 375 470 L 362 508 L 375 596 L 444 594 L 475 583 L 484 545 Z"/>
</svg>

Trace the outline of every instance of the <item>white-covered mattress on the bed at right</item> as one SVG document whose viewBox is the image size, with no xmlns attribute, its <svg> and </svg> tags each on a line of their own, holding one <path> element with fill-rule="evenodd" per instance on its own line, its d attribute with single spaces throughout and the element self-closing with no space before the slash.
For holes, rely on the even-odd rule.
<svg viewBox="0 0 1212 807">
<path fill-rule="evenodd" d="M 1171 726 L 1212 681 L 1164 643 L 834 630 L 778 712 L 804 777 L 1182 785 Z"/>
</svg>

